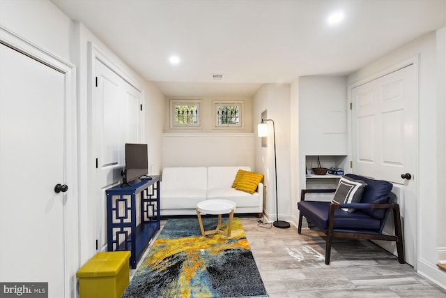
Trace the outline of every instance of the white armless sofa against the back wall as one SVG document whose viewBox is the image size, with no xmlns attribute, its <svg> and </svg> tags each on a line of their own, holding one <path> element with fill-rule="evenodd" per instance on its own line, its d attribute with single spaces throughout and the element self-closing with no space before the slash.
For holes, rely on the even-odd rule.
<svg viewBox="0 0 446 298">
<path fill-rule="evenodd" d="M 203 200 L 225 199 L 236 202 L 236 213 L 263 212 L 263 183 L 253 194 L 232 188 L 238 170 L 250 167 L 164 167 L 160 185 L 162 216 L 193 215 Z"/>
</svg>

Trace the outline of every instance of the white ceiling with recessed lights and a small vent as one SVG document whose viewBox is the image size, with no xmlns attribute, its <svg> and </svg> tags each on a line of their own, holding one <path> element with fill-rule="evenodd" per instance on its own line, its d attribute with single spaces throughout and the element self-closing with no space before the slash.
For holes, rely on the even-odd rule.
<svg viewBox="0 0 446 298">
<path fill-rule="evenodd" d="M 263 83 L 345 75 L 446 26 L 446 0 L 52 2 L 167 96 L 251 96 Z M 337 26 L 333 10 L 345 15 Z"/>
</svg>

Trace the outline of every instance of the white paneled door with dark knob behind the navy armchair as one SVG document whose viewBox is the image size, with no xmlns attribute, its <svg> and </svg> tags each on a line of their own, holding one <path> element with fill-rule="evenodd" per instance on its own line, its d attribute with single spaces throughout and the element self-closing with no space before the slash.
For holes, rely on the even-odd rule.
<svg viewBox="0 0 446 298">
<path fill-rule="evenodd" d="M 406 66 L 351 89 L 353 172 L 402 186 L 399 204 L 406 262 L 413 266 L 417 232 L 414 69 L 413 65 Z M 386 248 L 394 251 L 392 246 Z"/>
</svg>

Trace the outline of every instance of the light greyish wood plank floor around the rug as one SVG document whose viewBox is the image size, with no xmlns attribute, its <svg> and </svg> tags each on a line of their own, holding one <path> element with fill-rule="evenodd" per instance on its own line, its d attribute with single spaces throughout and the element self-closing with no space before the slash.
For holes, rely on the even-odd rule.
<svg viewBox="0 0 446 298">
<path fill-rule="evenodd" d="M 446 290 L 410 265 L 399 264 L 394 255 L 370 241 L 335 240 L 330 265 L 325 265 L 321 232 L 302 230 L 298 234 L 293 225 L 289 229 L 262 228 L 268 225 L 259 224 L 258 218 L 238 217 L 272 298 L 446 297 Z"/>
</svg>

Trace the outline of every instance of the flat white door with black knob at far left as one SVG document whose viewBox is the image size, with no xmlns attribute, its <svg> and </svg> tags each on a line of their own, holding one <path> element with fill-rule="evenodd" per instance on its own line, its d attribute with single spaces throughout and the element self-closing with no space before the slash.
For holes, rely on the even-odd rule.
<svg viewBox="0 0 446 298">
<path fill-rule="evenodd" d="M 65 78 L 0 44 L 0 281 L 64 297 Z"/>
</svg>

